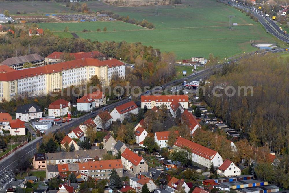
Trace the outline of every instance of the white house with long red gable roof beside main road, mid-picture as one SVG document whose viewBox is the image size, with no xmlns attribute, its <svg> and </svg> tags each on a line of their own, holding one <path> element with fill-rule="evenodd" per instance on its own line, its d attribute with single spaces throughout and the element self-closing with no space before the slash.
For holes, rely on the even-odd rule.
<svg viewBox="0 0 289 193">
<path fill-rule="evenodd" d="M 115 107 L 114 110 L 110 113 L 110 116 L 112 116 L 112 121 L 120 120 L 123 122 L 125 119 L 125 116 L 127 114 L 138 114 L 138 106 L 136 106 L 136 103 L 134 101 L 129 101 L 127 103 L 124 103 L 122 105 L 119 105 L 118 107 Z"/>
</svg>

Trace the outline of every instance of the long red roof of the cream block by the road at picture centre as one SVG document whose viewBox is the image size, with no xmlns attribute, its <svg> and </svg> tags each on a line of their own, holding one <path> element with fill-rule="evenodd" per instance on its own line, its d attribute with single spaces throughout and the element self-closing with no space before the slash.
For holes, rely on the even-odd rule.
<svg viewBox="0 0 289 193">
<path fill-rule="evenodd" d="M 145 101 L 146 100 L 146 101 Z M 151 102 L 151 101 L 158 101 L 158 102 L 188 102 L 189 97 L 188 95 L 142 95 L 140 101 L 143 102 Z M 160 101 L 162 100 L 162 101 Z"/>
</svg>

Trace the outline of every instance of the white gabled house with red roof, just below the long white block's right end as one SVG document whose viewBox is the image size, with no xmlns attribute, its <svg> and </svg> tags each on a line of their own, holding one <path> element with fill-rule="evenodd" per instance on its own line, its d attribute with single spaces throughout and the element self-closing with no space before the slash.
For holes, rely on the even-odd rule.
<svg viewBox="0 0 289 193">
<path fill-rule="evenodd" d="M 226 159 L 217 169 L 217 174 L 225 177 L 238 176 L 241 175 L 241 169 L 238 168 L 231 160 Z"/>
</svg>

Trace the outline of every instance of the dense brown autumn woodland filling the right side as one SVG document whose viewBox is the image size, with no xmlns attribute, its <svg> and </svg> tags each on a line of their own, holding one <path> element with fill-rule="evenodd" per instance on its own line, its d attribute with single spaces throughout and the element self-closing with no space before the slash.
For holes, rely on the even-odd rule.
<svg viewBox="0 0 289 193">
<path fill-rule="evenodd" d="M 237 142 L 236 146 L 242 147 L 239 149 L 241 157 L 238 155 L 237 159 L 255 159 L 250 166 L 251 173 L 284 188 L 289 188 L 288 62 L 288 59 L 266 54 L 243 58 L 238 64 L 223 65 L 222 70 L 210 77 L 210 83 L 205 85 L 205 96 L 201 96 L 217 117 L 248 139 Z M 215 91 L 222 96 L 214 96 L 216 86 L 222 87 Z M 228 86 L 236 90 L 238 86 L 252 86 L 253 90 L 241 90 L 240 96 L 237 92 L 226 96 Z M 195 140 L 202 143 L 199 137 Z M 280 155 L 277 156 L 278 166 L 268 164 L 266 149 Z"/>
</svg>

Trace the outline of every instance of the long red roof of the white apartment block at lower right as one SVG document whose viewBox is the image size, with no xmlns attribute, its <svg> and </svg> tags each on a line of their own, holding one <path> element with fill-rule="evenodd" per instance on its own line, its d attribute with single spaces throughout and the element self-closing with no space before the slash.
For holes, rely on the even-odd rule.
<svg viewBox="0 0 289 193">
<path fill-rule="evenodd" d="M 212 160 L 214 156 L 216 155 L 216 153 L 218 153 L 215 150 L 201 146 L 200 144 L 194 143 L 182 137 L 177 138 L 174 145 L 180 148 L 187 147 L 191 150 L 192 153 L 199 155 L 201 157 L 204 157 L 206 159 L 209 159 L 209 160 Z"/>
</svg>

